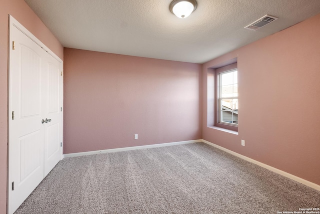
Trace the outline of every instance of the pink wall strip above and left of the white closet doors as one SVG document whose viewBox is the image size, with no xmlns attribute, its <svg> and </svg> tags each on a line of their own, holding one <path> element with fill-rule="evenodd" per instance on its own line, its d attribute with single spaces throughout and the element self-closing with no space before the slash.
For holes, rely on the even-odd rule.
<svg viewBox="0 0 320 214">
<path fill-rule="evenodd" d="M 8 14 L 63 59 L 63 47 L 23 0 L 0 3 L 0 213 L 6 212 Z"/>
</svg>

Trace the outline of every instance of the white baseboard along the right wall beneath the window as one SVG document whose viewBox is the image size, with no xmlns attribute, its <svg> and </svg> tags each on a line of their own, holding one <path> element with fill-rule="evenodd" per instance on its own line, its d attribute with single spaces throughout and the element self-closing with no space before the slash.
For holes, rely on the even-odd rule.
<svg viewBox="0 0 320 214">
<path fill-rule="evenodd" d="M 293 174 L 289 174 L 289 173 L 287 173 L 287 172 L 285 172 L 285 171 L 282 171 L 282 170 L 280 170 L 280 169 L 277 169 L 277 168 L 274 168 L 274 167 L 272 167 L 272 166 L 269 166 L 269 165 L 266 165 L 266 164 L 264 164 L 264 163 L 261 163 L 261 162 L 259 162 L 259 161 L 253 160 L 253 159 L 251 159 L 251 158 L 249 158 L 249 157 L 246 157 L 246 156 L 244 156 L 244 155 L 241 155 L 241 154 L 236 153 L 236 152 L 234 152 L 234 151 L 231 151 L 231 150 L 229 150 L 229 149 L 223 148 L 222 146 L 218 146 L 218 145 L 213 144 L 213 143 L 211 143 L 211 142 L 209 142 L 209 141 L 206 141 L 206 140 L 203 140 L 203 139 L 202 139 L 201 141 L 202 141 L 203 143 L 206 143 L 206 144 L 211 145 L 211 146 L 213 146 L 213 147 L 215 147 L 215 148 L 221 149 L 221 150 L 223 150 L 223 151 L 225 151 L 225 152 L 227 152 L 227 153 L 230 153 L 230 154 L 232 154 L 232 155 L 234 155 L 234 156 L 237 156 L 237 157 L 239 157 L 239 158 L 242 158 L 242 159 L 244 159 L 244 160 L 247 160 L 247 161 L 249 161 L 249 162 L 251 162 L 251 163 L 254 163 L 254 164 L 256 164 L 256 165 L 259 165 L 259 166 L 261 166 L 261 167 L 263 167 L 263 168 L 266 168 L 266 169 L 268 169 L 268 170 L 270 170 L 270 171 L 273 171 L 273 172 L 275 172 L 275 173 L 278 173 L 278 174 L 280 174 L 280 175 L 282 175 L 282 176 L 284 176 L 284 177 L 290 178 L 290 179 L 292 179 L 292 180 L 294 180 L 294 181 L 297 181 L 297 182 L 299 182 L 299 183 L 302 183 L 302 184 L 304 184 L 304 185 L 306 185 L 306 186 L 309 186 L 309 187 L 311 187 L 311 188 L 314 188 L 314 189 L 320 191 L 320 185 L 318 185 L 318 184 L 312 183 L 312 182 L 310 182 L 310 181 L 307 181 L 307 180 L 304 180 L 304 179 L 302 179 L 302 178 L 300 178 L 300 177 L 297 177 L 297 176 L 295 176 L 295 175 L 293 175 Z"/>
</svg>

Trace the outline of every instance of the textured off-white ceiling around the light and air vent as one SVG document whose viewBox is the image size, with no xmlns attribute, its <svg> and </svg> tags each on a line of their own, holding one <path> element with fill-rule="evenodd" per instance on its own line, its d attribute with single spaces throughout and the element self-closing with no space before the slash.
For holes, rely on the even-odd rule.
<svg viewBox="0 0 320 214">
<path fill-rule="evenodd" d="M 62 46 L 204 63 L 320 13 L 319 0 L 196 0 L 179 19 L 171 0 L 25 0 Z M 264 15 L 279 18 L 244 29 Z"/>
</svg>

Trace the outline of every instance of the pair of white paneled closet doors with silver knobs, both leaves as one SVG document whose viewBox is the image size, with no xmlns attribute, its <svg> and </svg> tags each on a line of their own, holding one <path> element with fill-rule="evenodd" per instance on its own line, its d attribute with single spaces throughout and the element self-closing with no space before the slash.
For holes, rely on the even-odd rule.
<svg viewBox="0 0 320 214">
<path fill-rule="evenodd" d="M 14 48 L 13 48 L 14 41 Z M 61 63 L 10 25 L 8 213 L 61 158 Z"/>
</svg>

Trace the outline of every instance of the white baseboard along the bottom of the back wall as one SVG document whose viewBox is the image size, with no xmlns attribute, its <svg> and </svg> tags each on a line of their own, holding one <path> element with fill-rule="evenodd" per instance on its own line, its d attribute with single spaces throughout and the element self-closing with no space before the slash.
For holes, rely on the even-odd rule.
<svg viewBox="0 0 320 214">
<path fill-rule="evenodd" d="M 155 147 L 162 147 L 162 146 L 173 146 L 173 145 L 181 145 L 181 144 L 196 143 L 196 142 L 202 142 L 202 140 L 187 140 L 187 141 L 179 141 L 179 142 L 172 142 L 172 143 L 160 143 L 160 144 L 152 144 L 152 145 L 145 145 L 145 146 L 132 146 L 132 147 L 125 147 L 125 148 L 104 149 L 104 150 L 97 150 L 97 151 L 69 153 L 69 154 L 63 154 L 63 158 L 64 157 L 77 157 L 77 156 L 84 156 L 84 155 L 91 155 L 91 154 L 103 154 L 103 153 L 118 152 L 118 151 L 128 151 L 128 150 L 136 150 L 136 149 L 155 148 Z"/>
</svg>

